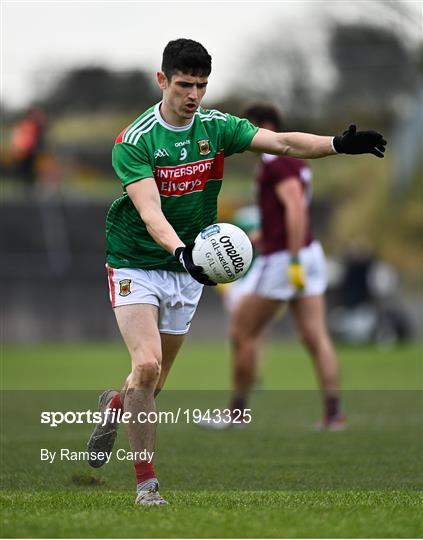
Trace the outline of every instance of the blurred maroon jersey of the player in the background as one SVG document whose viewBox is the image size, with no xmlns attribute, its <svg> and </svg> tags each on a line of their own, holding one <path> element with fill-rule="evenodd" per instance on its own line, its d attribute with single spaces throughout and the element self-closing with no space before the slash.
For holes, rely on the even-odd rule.
<svg viewBox="0 0 423 540">
<path fill-rule="evenodd" d="M 311 169 L 302 159 L 262 154 L 256 177 L 261 218 L 260 252 L 262 255 L 288 249 L 285 207 L 277 197 L 275 188 L 277 184 L 293 176 L 298 178 L 304 194 L 306 231 L 303 247 L 308 246 L 313 240 L 308 211 L 312 192 Z"/>
</svg>

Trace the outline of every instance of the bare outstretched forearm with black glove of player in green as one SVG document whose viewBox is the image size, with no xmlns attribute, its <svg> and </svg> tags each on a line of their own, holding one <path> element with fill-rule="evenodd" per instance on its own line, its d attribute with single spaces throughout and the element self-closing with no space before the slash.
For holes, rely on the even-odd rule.
<svg viewBox="0 0 423 540">
<path fill-rule="evenodd" d="M 373 154 L 383 158 L 386 140 L 377 131 L 357 131 L 354 124 L 342 135 L 325 137 L 311 133 L 275 133 L 259 129 L 249 150 L 304 159 L 334 154 Z"/>
</svg>

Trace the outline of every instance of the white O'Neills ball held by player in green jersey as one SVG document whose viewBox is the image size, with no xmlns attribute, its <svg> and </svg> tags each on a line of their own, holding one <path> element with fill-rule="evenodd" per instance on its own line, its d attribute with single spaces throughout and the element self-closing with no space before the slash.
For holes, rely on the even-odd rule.
<svg viewBox="0 0 423 540">
<path fill-rule="evenodd" d="M 230 223 L 203 229 L 194 241 L 192 260 L 215 283 L 231 283 L 242 277 L 253 258 L 253 246 L 245 232 Z"/>
</svg>

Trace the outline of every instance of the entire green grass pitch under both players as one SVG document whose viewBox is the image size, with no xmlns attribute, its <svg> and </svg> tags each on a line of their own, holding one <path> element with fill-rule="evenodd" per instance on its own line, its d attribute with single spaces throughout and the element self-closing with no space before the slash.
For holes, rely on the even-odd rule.
<svg viewBox="0 0 423 540">
<path fill-rule="evenodd" d="M 155 462 L 171 504 L 134 508 L 130 463 L 112 460 L 93 470 L 39 458 L 40 448 L 84 449 L 89 426 L 41 426 L 40 411 L 93 409 L 93 389 L 118 386 L 126 376 L 123 345 L 5 347 L 1 535 L 421 536 L 421 346 L 343 348 L 339 355 L 347 431 L 312 430 L 320 396 L 310 361 L 296 344 L 273 343 L 252 398 L 251 426 L 159 426 Z M 223 344 L 188 342 L 159 408 L 223 407 L 228 381 Z M 127 448 L 124 430 L 116 446 Z"/>
</svg>

